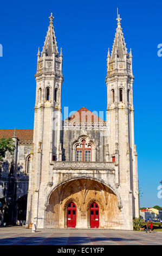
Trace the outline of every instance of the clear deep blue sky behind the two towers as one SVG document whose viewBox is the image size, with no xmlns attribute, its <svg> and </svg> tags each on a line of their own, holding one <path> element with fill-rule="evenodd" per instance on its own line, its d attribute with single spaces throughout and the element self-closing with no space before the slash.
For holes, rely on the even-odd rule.
<svg viewBox="0 0 162 256">
<path fill-rule="evenodd" d="M 141 206 L 162 205 L 157 187 L 161 157 L 161 1 L 3 1 L 0 9 L 1 129 L 33 129 L 37 49 L 50 13 L 63 51 L 62 107 L 106 111 L 106 58 L 113 45 L 116 7 L 132 48 L 135 143 Z"/>
</svg>

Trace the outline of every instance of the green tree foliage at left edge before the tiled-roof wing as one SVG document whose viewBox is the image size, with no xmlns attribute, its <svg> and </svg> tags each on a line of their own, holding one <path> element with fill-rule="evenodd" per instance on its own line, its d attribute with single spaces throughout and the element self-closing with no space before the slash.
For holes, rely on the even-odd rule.
<svg viewBox="0 0 162 256">
<path fill-rule="evenodd" d="M 15 150 L 14 141 L 12 138 L 6 139 L 4 136 L 0 139 L 0 161 L 3 161 L 5 154 L 9 151 L 11 154 Z"/>
</svg>

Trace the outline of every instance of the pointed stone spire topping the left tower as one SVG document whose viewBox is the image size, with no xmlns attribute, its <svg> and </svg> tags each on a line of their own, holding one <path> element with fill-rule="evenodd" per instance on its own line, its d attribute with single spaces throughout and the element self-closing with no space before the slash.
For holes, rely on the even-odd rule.
<svg viewBox="0 0 162 256">
<path fill-rule="evenodd" d="M 56 36 L 54 32 L 53 26 L 53 14 L 49 16 L 50 22 L 47 31 L 46 40 L 44 41 L 43 51 L 42 53 L 46 53 L 46 56 L 52 56 L 53 53 L 56 55 L 59 53 L 57 48 Z"/>
</svg>

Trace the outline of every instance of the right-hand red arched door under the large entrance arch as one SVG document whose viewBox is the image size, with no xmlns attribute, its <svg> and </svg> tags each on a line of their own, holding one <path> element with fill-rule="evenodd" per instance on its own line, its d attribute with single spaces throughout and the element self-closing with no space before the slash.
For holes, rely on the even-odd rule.
<svg viewBox="0 0 162 256">
<path fill-rule="evenodd" d="M 99 205 L 96 203 L 90 206 L 90 228 L 99 228 Z"/>
</svg>

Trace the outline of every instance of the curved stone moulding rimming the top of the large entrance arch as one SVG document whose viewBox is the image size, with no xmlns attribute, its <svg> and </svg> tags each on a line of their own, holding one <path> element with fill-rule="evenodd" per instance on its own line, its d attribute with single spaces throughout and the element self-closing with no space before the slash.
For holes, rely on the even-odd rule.
<svg viewBox="0 0 162 256">
<path fill-rule="evenodd" d="M 105 181 L 103 181 L 103 180 L 100 179 L 100 178 L 97 179 L 97 178 L 92 178 L 92 177 L 90 177 L 90 176 L 78 176 L 78 177 L 73 178 L 73 179 L 69 179 L 69 180 L 66 180 L 66 181 L 62 181 L 59 185 L 56 185 L 56 186 L 53 185 L 53 186 L 50 188 L 49 193 L 48 193 L 48 195 L 47 195 L 47 197 L 46 197 L 46 202 L 45 202 L 45 204 L 44 204 L 44 205 L 45 205 L 45 209 L 47 209 L 47 206 L 49 205 L 49 198 L 50 198 L 50 196 L 51 196 L 51 193 L 53 193 L 53 192 L 56 190 L 57 187 L 59 187 L 59 186 L 65 184 L 65 183 L 67 183 L 67 182 L 69 182 L 69 181 L 74 181 L 74 180 L 77 180 L 77 179 L 95 180 L 95 181 L 98 181 L 98 182 L 100 182 L 101 184 L 107 186 L 108 188 L 110 188 L 110 189 L 114 192 L 115 196 L 118 198 L 118 208 L 119 208 L 119 209 L 122 208 L 122 202 L 121 202 L 120 194 L 119 194 L 118 191 L 116 190 L 115 186 L 113 186 L 111 183 L 105 182 Z"/>
</svg>

